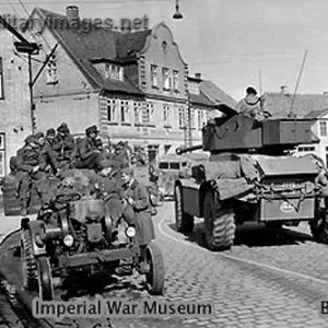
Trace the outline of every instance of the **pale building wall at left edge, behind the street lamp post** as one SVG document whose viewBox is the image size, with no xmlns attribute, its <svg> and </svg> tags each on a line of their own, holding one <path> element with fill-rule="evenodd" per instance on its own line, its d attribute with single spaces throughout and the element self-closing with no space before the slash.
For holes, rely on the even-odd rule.
<svg viewBox="0 0 328 328">
<path fill-rule="evenodd" d="M 16 39 L 0 28 L 0 178 L 10 172 L 10 157 L 31 134 L 28 66 L 24 55 L 16 55 Z"/>
</svg>

